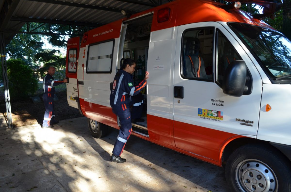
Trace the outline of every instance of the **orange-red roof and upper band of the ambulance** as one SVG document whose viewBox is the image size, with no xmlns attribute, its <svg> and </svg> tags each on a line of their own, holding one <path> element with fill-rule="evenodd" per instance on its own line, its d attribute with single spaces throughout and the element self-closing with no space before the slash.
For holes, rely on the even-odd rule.
<svg viewBox="0 0 291 192">
<path fill-rule="evenodd" d="M 90 44 L 91 37 L 98 37 L 98 41 L 103 41 L 106 39 L 117 38 L 120 35 L 121 23 L 129 19 L 142 16 L 153 12 L 153 20 L 151 31 L 171 28 L 174 26 L 181 26 L 189 23 L 198 23 L 206 21 L 224 21 L 224 22 L 240 22 L 248 23 L 252 25 L 262 26 L 266 28 L 272 28 L 264 21 L 255 19 L 248 12 L 239 9 L 225 10 L 221 6 L 225 4 L 218 3 L 212 0 L 176 0 L 170 3 L 145 10 L 140 13 L 136 13 L 129 18 L 124 18 L 107 25 L 92 29 L 85 34 L 90 37 L 89 41 L 81 41 L 81 47 Z M 157 22 L 157 12 L 161 8 L 170 8 L 170 18 L 168 21 L 158 23 Z M 273 28 L 272 28 L 273 29 Z M 112 32 L 110 32 L 112 31 Z M 108 32 L 108 33 L 107 33 Z M 110 33 L 109 33 L 110 32 Z M 109 38 L 110 37 L 110 38 Z M 92 39 L 93 40 L 93 39 Z M 96 42 L 96 41 L 93 41 Z"/>
</svg>

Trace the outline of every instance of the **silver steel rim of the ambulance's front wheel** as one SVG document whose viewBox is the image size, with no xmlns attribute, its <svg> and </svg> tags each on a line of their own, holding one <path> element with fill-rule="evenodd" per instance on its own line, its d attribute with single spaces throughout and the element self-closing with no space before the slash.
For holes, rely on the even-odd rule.
<svg viewBox="0 0 291 192">
<path fill-rule="evenodd" d="M 235 170 L 235 180 L 244 192 L 277 192 L 278 180 L 274 171 L 264 162 L 247 159 Z"/>
</svg>

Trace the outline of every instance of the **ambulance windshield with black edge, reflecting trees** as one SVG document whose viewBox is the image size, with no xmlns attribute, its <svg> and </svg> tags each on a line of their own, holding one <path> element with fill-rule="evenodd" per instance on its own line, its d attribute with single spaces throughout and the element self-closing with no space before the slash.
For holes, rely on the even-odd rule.
<svg viewBox="0 0 291 192">
<path fill-rule="evenodd" d="M 270 79 L 291 81 L 291 41 L 271 29 L 244 23 L 228 23 L 250 48 Z M 286 83 L 288 83 L 286 82 Z"/>
</svg>

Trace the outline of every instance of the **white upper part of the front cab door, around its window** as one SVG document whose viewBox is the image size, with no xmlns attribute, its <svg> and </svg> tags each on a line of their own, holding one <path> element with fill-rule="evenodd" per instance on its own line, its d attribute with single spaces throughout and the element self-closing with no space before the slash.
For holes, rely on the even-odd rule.
<svg viewBox="0 0 291 192">
<path fill-rule="evenodd" d="M 258 70 L 253 66 L 252 61 L 248 57 L 248 54 L 242 49 L 242 46 L 236 41 L 236 39 L 234 39 L 220 23 L 192 23 L 178 27 L 176 47 L 181 47 L 182 34 L 185 30 L 210 26 L 218 28 L 234 46 L 242 57 L 242 60 L 246 62 L 246 66 L 248 67 L 253 79 L 253 90 L 250 95 L 233 97 L 224 94 L 221 87 L 214 82 L 183 79 L 180 74 L 181 51 L 177 50 L 175 57 L 174 86 L 184 87 L 184 99 L 174 98 L 174 124 L 175 122 L 184 122 L 236 135 L 256 136 L 259 123 L 262 80 Z M 222 100 L 223 106 L 213 105 L 211 99 Z M 180 103 L 178 103 L 178 100 Z M 200 118 L 198 116 L 198 108 L 222 111 L 223 120 L 217 122 Z M 240 124 L 242 122 L 236 121 L 236 119 L 253 121 L 253 124 L 251 124 L 252 126 L 245 126 Z"/>
</svg>

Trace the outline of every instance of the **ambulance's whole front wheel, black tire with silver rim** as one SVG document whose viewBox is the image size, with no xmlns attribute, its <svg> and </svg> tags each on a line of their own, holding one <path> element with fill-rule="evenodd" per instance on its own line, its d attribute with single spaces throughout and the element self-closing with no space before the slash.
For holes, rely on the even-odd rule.
<svg viewBox="0 0 291 192">
<path fill-rule="evenodd" d="M 290 192 L 290 161 L 272 146 L 245 145 L 226 162 L 226 180 L 237 192 Z"/>
</svg>

